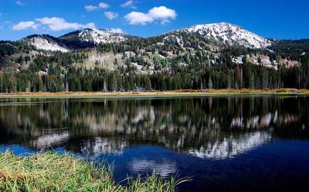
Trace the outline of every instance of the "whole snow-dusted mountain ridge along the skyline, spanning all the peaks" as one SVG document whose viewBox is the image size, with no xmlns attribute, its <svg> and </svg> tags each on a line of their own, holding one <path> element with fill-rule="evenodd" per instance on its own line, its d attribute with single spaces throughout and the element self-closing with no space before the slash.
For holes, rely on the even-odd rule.
<svg viewBox="0 0 309 192">
<path fill-rule="evenodd" d="M 169 40 L 173 39 L 180 44 L 180 47 L 183 47 L 182 43 L 185 38 L 184 34 L 186 34 L 186 36 L 197 37 L 199 39 L 199 44 L 205 44 L 204 46 L 214 44 L 216 47 L 244 46 L 250 49 L 268 49 L 268 47 L 280 42 L 280 40 L 276 39 L 262 38 L 261 36 L 243 29 L 238 25 L 223 22 L 192 25 L 190 27 L 174 29 L 159 36 L 148 38 L 130 36 L 128 34 L 117 33 L 108 29 L 85 28 L 77 31 L 71 31 L 59 36 L 58 38 L 49 35 L 34 35 L 36 37 L 32 37 L 30 44 L 35 46 L 36 49 L 67 52 L 75 49 L 92 48 L 98 44 L 126 42 L 137 38 L 150 39 L 159 37 L 157 39 L 163 39 L 157 42 L 159 44 L 169 42 Z M 35 42 L 38 36 L 41 37 L 41 39 Z M 27 38 L 30 37 L 31 36 L 28 36 Z M 43 40 L 43 38 L 45 38 L 45 40 Z M 201 48 L 200 46 L 197 47 Z"/>
</svg>

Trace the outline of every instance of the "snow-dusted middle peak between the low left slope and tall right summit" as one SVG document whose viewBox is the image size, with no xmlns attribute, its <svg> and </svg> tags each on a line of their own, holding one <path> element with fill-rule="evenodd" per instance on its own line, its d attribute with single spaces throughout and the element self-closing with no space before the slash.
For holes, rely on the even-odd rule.
<svg viewBox="0 0 309 192">
<path fill-rule="evenodd" d="M 116 33 L 107 29 L 87 28 L 67 33 L 59 37 L 62 40 L 89 42 L 93 44 L 113 43 L 128 40 L 130 36 L 124 33 Z"/>
</svg>

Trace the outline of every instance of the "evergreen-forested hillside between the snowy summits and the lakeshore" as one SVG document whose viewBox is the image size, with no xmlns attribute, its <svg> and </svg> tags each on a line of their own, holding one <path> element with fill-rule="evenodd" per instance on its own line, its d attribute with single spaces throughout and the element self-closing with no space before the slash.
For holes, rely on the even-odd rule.
<svg viewBox="0 0 309 192">
<path fill-rule="evenodd" d="M 177 30 L 152 38 L 117 34 L 113 41 L 93 31 L 80 42 L 77 34 L 88 37 L 87 31 L 60 40 L 30 36 L 1 41 L 0 92 L 309 89 L 308 40 L 263 40 L 268 46 L 255 49 L 235 40 L 228 44 L 225 37 L 208 38 L 201 31 Z M 68 51 L 39 49 L 34 44 L 38 37 L 46 47 L 57 42 Z"/>
</svg>

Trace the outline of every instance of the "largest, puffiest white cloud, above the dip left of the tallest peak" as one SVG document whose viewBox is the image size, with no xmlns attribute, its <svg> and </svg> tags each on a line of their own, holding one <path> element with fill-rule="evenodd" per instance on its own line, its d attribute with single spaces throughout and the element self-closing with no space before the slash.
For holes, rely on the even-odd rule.
<svg viewBox="0 0 309 192">
<path fill-rule="evenodd" d="M 152 8 L 147 14 L 142 12 L 130 12 L 124 16 L 124 18 L 130 25 L 146 25 L 155 20 L 161 20 L 161 25 L 165 25 L 166 23 L 170 23 L 170 19 L 176 19 L 176 16 L 175 10 L 161 6 L 159 8 Z"/>
</svg>

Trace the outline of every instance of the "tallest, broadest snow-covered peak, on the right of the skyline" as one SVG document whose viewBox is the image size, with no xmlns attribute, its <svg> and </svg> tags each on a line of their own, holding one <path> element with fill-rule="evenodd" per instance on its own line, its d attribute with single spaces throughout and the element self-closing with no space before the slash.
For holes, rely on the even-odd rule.
<svg viewBox="0 0 309 192">
<path fill-rule="evenodd" d="M 188 34 L 198 34 L 209 40 L 217 40 L 225 44 L 239 44 L 249 48 L 261 49 L 270 46 L 272 42 L 262 38 L 255 33 L 242 29 L 237 25 L 229 23 L 213 23 L 207 25 L 194 25 L 171 32 L 185 32 Z"/>
</svg>

